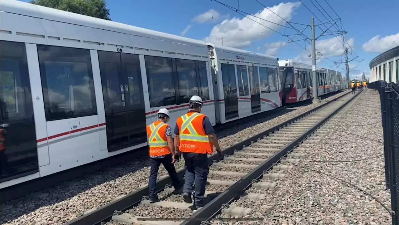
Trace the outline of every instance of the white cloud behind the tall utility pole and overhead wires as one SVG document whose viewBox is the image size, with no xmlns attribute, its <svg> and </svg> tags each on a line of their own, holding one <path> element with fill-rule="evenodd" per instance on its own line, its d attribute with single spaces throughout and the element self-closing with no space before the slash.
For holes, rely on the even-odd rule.
<svg viewBox="0 0 399 225">
<path fill-rule="evenodd" d="M 348 44 L 352 49 L 354 49 L 355 48 L 354 38 L 350 38 L 348 40 Z M 346 44 L 346 46 L 348 46 L 348 44 Z M 311 52 L 312 47 L 309 45 L 306 47 L 306 49 L 309 52 Z M 296 56 L 294 58 L 294 60 L 296 60 L 298 62 L 311 64 L 312 59 L 310 57 L 308 57 L 309 52 L 306 52 L 304 50 L 302 52 L 302 54 L 300 54 L 299 56 Z M 334 57 L 334 56 L 342 56 L 342 54 L 344 53 L 344 46 L 342 46 L 342 39 L 340 37 L 332 37 L 332 38 L 316 41 L 316 53 L 317 52 L 320 52 L 320 54 L 322 54 L 321 57 L 317 57 L 318 58 L 318 60 L 316 60 L 317 62 L 326 60 L 325 57 L 330 58 L 330 57 Z M 323 57 L 323 56 L 325 56 L 325 57 Z M 330 62 L 329 64 L 333 64 L 333 63 Z"/>
</svg>

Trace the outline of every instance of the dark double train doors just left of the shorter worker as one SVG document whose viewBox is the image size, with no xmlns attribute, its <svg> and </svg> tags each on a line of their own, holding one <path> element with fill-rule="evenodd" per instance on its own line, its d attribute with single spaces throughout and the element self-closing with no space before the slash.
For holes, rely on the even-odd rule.
<svg viewBox="0 0 399 225">
<path fill-rule="evenodd" d="M 108 151 L 147 141 L 138 55 L 99 51 Z"/>
</svg>

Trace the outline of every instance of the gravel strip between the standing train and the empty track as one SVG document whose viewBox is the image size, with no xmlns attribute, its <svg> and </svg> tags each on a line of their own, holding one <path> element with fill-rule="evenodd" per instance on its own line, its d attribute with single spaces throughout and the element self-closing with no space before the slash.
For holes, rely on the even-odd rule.
<svg viewBox="0 0 399 225">
<path fill-rule="evenodd" d="M 336 94 L 321 103 L 337 98 L 348 91 Z M 279 116 L 265 121 L 265 118 L 256 118 L 246 121 L 245 124 L 236 124 L 229 129 L 219 131 L 217 136 L 222 148 L 229 147 L 260 133 L 292 117 L 311 110 L 320 103 L 299 106 L 283 110 Z M 285 113 L 285 114 L 283 114 Z M 176 168 L 184 166 L 184 160 L 176 163 Z M 0 212 L 0 223 L 3 225 L 59 225 L 82 216 L 87 210 L 99 208 L 120 195 L 131 193 L 148 182 L 148 161 L 130 161 L 118 166 L 118 171 L 99 171 L 92 176 L 75 179 L 71 187 L 56 186 L 40 191 L 49 194 L 44 198 L 21 197 L 4 203 L 12 208 Z M 165 175 L 166 171 L 160 168 L 158 176 Z"/>
</svg>

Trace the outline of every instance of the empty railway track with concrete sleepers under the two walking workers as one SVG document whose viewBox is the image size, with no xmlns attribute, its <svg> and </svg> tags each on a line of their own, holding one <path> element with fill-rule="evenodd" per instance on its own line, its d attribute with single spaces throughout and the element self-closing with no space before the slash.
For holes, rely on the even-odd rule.
<svg viewBox="0 0 399 225">
<path fill-rule="evenodd" d="M 143 185 L 138 191 L 121 196 L 67 224 L 95 225 L 112 219 L 115 222 L 110 224 L 199 225 L 206 224 L 205 221 L 211 221 L 220 213 L 227 217 L 245 217 L 250 208 L 229 207 L 227 204 L 237 198 L 265 198 L 265 191 L 276 188 L 277 180 L 285 176 L 284 171 L 294 167 L 298 158 L 304 155 L 306 147 L 319 141 L 317 136 L 309 135 L 356 96 L 349 92 L 224 149 L 225 156 L 222 159 L 218 155 L 211 155 L 208 158 L 209 185 L 205 192 L 205 201 L 208 203 L 194 213 L 188 209 L 192 204 L 184 203 L 181 195 L 171 195 L 173 189 L 168 186 L 170 178 L 165 176 L 157 182 L 159 202 L 149 203 L 146 198 L 148 186 Z M 296 148 L 298 144 L 300 147 Z M 178 175 L 180 179 L 183 178 L 184 168 L 178 170 Z M 154 218 L 158 218 L 158 221 Z"/>
</svg>

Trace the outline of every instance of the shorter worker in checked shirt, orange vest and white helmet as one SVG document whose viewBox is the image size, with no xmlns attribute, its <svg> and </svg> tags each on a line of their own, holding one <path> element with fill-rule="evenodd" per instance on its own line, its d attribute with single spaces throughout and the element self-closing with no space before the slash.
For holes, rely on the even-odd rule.
<svg viewBox="0 0 399 225">
<path fill-rule="evenodd" d="M 150 180 L 148 181 L 148 189 L 150 191 L 150 203 L 158 201 L 156 195 L 156 177 L 161 163 L 168 171 L 172 185 L 174 186 L 174 194 L 182 193 L 182 185 L 173 165 L 175 162 L 175 151 L 172 140 L 172 131 L 167 122 L 170 119 L 167 109 L 160 109 L 157 113 L 158 120 L 147 126 L 148 143 L 150 145 Z"/>
</svg>

